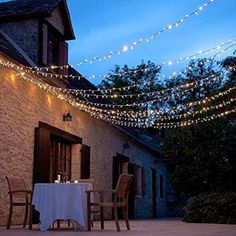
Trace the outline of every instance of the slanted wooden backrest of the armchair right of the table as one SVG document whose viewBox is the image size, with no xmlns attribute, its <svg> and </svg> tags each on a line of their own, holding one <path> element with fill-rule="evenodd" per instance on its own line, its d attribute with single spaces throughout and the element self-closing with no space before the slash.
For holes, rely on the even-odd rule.
<svg viewBox="0 0 236 236">
<path fill-rule="evenodd" d="M 118 198 L 122 198 L 123 200 L 128 197 L 129 188 L 131 181 L 133 179 L 133 175 L 129 174 L 121 174 L 117 185 L 116 185 L 116 194 Z"/>
</svg>

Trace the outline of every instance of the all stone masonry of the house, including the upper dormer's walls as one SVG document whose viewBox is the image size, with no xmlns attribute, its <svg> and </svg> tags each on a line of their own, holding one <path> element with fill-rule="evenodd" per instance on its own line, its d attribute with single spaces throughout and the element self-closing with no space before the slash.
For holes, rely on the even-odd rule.
<svg viewBox="0 0 236 236">
<path fill-rule="evenodd" d="M 47 20 L 55 30 L 63 33 L 63 21 L 60 16 L 60 12 L 56 9 L 52 18 Z M 26 54 L 36 65 L 39 65 L 39 58 L 42 56 L 40 30 L 42 28 L 39 27 L 39 19 L 1 24 L 1 31 L 7 34 L 21 49 L 21 53 Z M 47 46 L 47 42 L 44 46 Z M 5 56 L 0 52 L 0 59 L 3 57 L 4 60 L 11 61 L 11 58 Z M 25 76 L 32 79 L 36 75 Z M 53 78 L 50 83 L 52 80 Z M 142 169 L 143 180 L 141 193 L 136 193 L 133 199 L 133 217 L 152 218 L 154 202 L 157 216 L 166 216 L 167 170 L 162 162 L 157 161 L 159 154 L 156 151 L 133 139 L 132 135 L 127 135 L 124 130 L 70 106 L 37 85 L 24 80 L 14 69 L 1 65 L 0 101 L 0 225 L 6 225 L 9 207 L 5 176 L 22 177 L 29 189 L 33 187 L 35 128 L 39 126 L 39 122 L 80 137 L 82 144 L 90 147 L 90 177 L 96 179 L 95 187 L 111 189 L 114 157 L 119 154 L 128 158 L 129 164 Z M 71 122 L 64 122 L 62 117 L 68 110 L 73 119 Z M 125 142 L 128 142 L 128 148 L 124 147 Z M 72 145 L 72 179 L 80 178 L 80 150 L 81 144 Z M 122 169 L 128 172 L 128 163 L 125 163 Z M 163 177 L 162 184 L 160 176 Z M 152 183 L 155 183 L 155 188 Z M 160 186 L 163 186 L 162 196 L 159 191 Z M 156 196 L 153 194 L 153 189 L 156 189 Z M 21 223 L 22 210 L 14 210 L 13 224 Z M 106 217 L 111 217 L 111 212 L 106 212 Z"/>
</svg>

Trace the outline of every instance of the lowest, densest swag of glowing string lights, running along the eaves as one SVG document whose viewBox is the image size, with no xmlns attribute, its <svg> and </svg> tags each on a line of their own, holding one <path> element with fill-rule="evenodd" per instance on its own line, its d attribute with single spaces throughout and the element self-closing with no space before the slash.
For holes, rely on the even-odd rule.
<svg viewBox="0 0 236 236">
<path fill-rule="evenodd" d="M 0 60 L 0 63 L 2 63 L 2 60 Z M 17 66 L 14 63 L 11 63 L 11 64 L 8 63 L 8 67 L 18 71 Z M 123 125 L 123 126 L 143 127 L 143 128 L 153 127 L 153 128 L 158 128 L 158 129 L 176 128 L 176 127 L 184 127 L 184 126 L 188 126 L 191 124 L 210 121 L 210 120 L 224 117 L 224 116 L 227 116 L 227 115 L 230 115 L 230 114 L 236 112 L 236 109 L 230 109 L 230 110 L 227 109 L 226 111 L 223 111 L 220 113 L 214 113 L 212 115 L 207 115 L 207 116 L 195 118 L 195 116 L 197 116 L 199 114 L 202 115 L 205 112 L 213 111 L 214 109 L 220 109 L 222 107 L 226 108 L 227 106 L 229 106 L 233 102 L 235 102 L 235 98 L 232 97 L 232 98 L 229 98 L 227 101 L 224 101 L 220 104 L 216 104 L 214 106 L 213 105 L 206 106 L 209 102 L 215 101 L 217 98 L 220 98 L 225 95 L 229 95 L 230 93 L 235 93 L 234 91 L 235 91 L 236 87 L 231 87 L 231 88 L 228 88 L 227 90 L 225 90 L 223 92 L 219 92 L 213 96 L 204 97 L 201 100 L 192 101 L 192 102 L 188 102 L 188 103 L 184 104 L 185 109 L 187 107 L 193 107 L 196 105 L 204 105 L 205 107 L 203 107 L 200 110 L 188 111 L 183 114 L 177 114 L 174 116 L 173 115 L 163 115 L 160 117 L 156 117 L 156 115 L 160 115 L 160 113 L 158 113 L 159 111 L 161 111 L 161 112 L 170 112 L 171 111 L 172 113 L 176 112 L 176 111 L 180 112 L 181 110 L 179 110 L 178 107 L 176 106 L 176 107 L 172 107 L 169 110 L 159 109 L 156 113 L 152 112 L 152 110 L 148 111 L 149 115 L 152 113 L 153 117 L 159 118 L 159 120 L 157 119 L 156 121 L 151 120 L 151 117 L 152 117 L 151 115 L 150 115 L 149 119 L 137 119 L 137 120 L 131 120 L 131 121 L 128 121 L 127 119 L 122 120 L 121 118 L 117 118 L 118 116 L 116 116 L 116 113 L 119 113 L 120 116 L 123 114 L 131 114 L 131 113 L 129 113 L 129 111 L 120 112 L 119 110 L 106 110 L 106 109 L 100 109 L 100 108 L 96 108 L 94 106 L 90 106 L 88 103 L 85 103 L 84 101 L 80 101 L 79 99 L 75 99 L 75 97 L 70 94 L 67 94 L 67 93 L 65 94 L 61 91 L 56 90 L 55 87 L 50 86 L 49 84 L 45 83 L 45 81 L 43 81 L 43 78 L 41 78 L 41 77 L 35 77 L 30 74 L 25 74 L 24 72 L 21 72 L 21 71 L 19 74 L 21 75 L 20 76 L 21 78 L 37 85 L 40 89 L 43 89 L 46 92 L 56 96 L 58 99 L 69 103 L 71 106 L 89 113 L 94 118 L 106 120 L 106 121 L 112 122 L 114 124 Z M 174 109 L 176 109 L 176 111 Z M 109 116 L 107 114 L 104 114 L 103 112 L 107 112 L 107 114 L 109 114 Z M 112 114 L 112 116 L 110 116 L 110 114 Z M 134 114 L 135 114 L 135 112 L 133 112 L 133 115 Z M 140 114 L 143 114 L 143 113 L 141 111 L 136 112 L 137 117 Z M 186 119 L 187 117 L 192 117 L 192 118 L 185 120 L 185 121 L 168 122 L 169 120 L 181 119 L 181 118 Z"/>
</svg>

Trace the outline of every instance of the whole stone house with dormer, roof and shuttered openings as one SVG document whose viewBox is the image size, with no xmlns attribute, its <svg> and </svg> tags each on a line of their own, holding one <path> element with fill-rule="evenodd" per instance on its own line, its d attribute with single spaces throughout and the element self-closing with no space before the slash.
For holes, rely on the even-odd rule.
<svg viewBox="0 0 236 236">
<path fill-rule="evenodd" d="M 130 217 L 167 216 L 167 170 L 158 141 L 95 119 L 50 89 L 96 89 L 85 78 L 71 82 L 22 67 L 67 64 L 66 41 L 72 39 L 65 0 L 0 3 L 0 225 L 9 206 L 5 176 L 22 177 L 33 188 L 53 182 L 58 171 L 67 179 L 95 178 L 99 188 L 113 188 L 121 172 L 132 173 Z M 74 69 L 56 73 L 80 76 Z M 13 220 L 21 220 L 21 211 Z"/>
</svg>

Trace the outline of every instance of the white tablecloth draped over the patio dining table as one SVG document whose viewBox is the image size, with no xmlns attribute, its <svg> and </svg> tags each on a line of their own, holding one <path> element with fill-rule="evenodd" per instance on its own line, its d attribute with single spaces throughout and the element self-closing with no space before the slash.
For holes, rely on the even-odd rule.
<svg viewBox="0 0 236 236">
<path fill-rule="evenodd" d="M 32 204 L 40 213 L 40 230 L 47 230 L 56 219 L 75 221 L 87 229 L 87 198 L 89 183 L 35 184 Z"/>
</svg>

